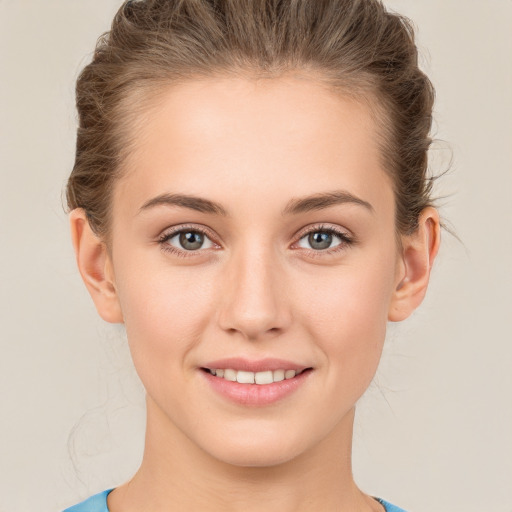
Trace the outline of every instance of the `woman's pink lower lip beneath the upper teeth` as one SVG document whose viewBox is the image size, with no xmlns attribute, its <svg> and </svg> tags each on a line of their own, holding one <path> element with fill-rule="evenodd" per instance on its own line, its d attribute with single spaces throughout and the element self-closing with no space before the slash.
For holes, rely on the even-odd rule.
<svg viewBox="0 0 512 512">
<path fill-rule="evenodd" d="M 214 391 L 240 405 L 262 407 L 270 405 L 291 395 L 309 377 L 312 370 L 304 370 L 291 379 L 285 379 L 272 384 L 240 384 L 211 373 L 199 370 Z"/>
</svg>

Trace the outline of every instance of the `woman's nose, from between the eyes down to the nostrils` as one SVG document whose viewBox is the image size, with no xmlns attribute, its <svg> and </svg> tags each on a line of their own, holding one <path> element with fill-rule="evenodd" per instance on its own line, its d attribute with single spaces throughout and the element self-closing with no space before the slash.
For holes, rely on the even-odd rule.
<svg viewBox="0 0 512 512">
<path fill-rule="evenodd" d="M 234 251 L 222 280 L 220 327 L 251 341 L 275 337 L 291 321 L 282 261 L 271 247 Z"/>
</svg>

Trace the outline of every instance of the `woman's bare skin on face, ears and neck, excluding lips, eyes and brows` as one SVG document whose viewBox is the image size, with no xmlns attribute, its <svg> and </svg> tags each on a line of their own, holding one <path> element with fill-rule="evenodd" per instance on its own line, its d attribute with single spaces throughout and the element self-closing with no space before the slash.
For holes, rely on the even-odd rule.
<svg viewBox="0 0 512 512">
<path fill-rule="evenodd" d="M 147 391 L 143 462 L 109 495 L 111 512 L 382 511 L 352 478 L 355 404 L 387 322 L 423 299 L 437 212 L 397 243 L 368 107 L 313 79 L 191 80 L 147 113 L 114 187 L 109 247 L 82 210 L 70 215 L 82 277 L 99 314 L 125 324 Z M 295 198 L 340 190 L 367 205 L 281 214 Z M 177 193 L 228 215 L 143 208 Z M 201 248 L 162 240 L 183 226 L 207 231 Z M 305 231 L 326 228 L 350 242 L 312 246 Z M 248 407 L 205 384 L 200 367 L 225 357 L 313 370 L 290 396 Z"/>
</svg>

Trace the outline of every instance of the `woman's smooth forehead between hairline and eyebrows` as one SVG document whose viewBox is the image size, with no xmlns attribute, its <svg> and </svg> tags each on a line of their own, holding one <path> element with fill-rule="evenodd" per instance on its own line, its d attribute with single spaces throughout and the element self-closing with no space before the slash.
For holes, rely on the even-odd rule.
<svg viewBox="0 0 512 512">
<path fill-rule="evenodd" d="M 190 80 L 160 90 L 134 125 L 114 197 L 133 208 L 167 192 L 277 207 L 279 196 L 336 187 L 378 206 L 391 186 L 377 135 L 366 104 L 310 78 Z"/>
</svg>

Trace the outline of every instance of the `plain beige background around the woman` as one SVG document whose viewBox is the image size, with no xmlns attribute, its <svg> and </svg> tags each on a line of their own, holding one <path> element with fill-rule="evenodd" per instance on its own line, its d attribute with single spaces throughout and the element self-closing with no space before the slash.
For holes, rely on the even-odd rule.
<svg viewBox="0 0 512 512">
<path fill-rule="evenodd" d="M 119 3 L 0 0 L 1 512 L 115 486 L 142 449 L 122 328 L 97 318 L 61 207 L 74 80 Z M 465 246 L 445 234 L 425 303 L 390 326 L 360 404 L 356 479 L 410 512 L 511 512 L 512 1 L 386 3 L 418 27 L 435 136 L 454 153 L 441 212 Z"/>
</svg>

